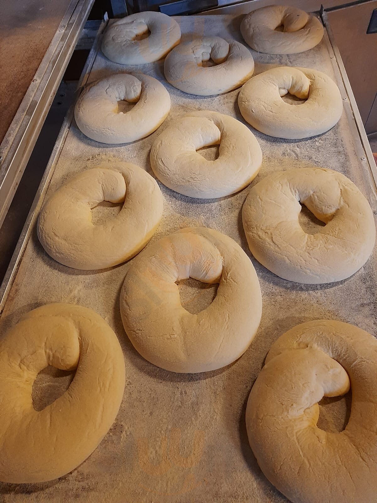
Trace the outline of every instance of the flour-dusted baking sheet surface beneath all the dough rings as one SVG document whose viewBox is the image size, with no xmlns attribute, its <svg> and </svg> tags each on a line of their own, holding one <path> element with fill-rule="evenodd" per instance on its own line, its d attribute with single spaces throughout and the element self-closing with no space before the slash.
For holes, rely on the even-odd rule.
<svg viewBox="0 0 377 503">
<path fill-rule="evenodd" d="M 239 17 L 193 16 L 176 18 L 184 37 L 189 33 L 220 35 L 242 42 Z M 95 54 L 96 55 L 96 54 Z M 289 56 L 253 52 L 255 73 L 276 65 L 307 66 L 330 75 L 344 99 L 339 123 L 315 138 L 281 140 L 252 130 L 263 152 L 260 174 L 291 167 L 325 166 L 348 176 L 366 195 L 377 213 L 372 166 L 368 163 L 343 78 L 327 34 L 311 51 Z M 132 71 L 111 63 L 98 52 L 84 80 Z M 63 129 L 11 265 L 2 293 L 1 332 L 37 306 L 49 302 L 71 302 L 95 309 L 113 327 L 126 362 L 126 388 L 114 425 L 99 448 L 70 474 L 52 482 L 0 485 L 0 498 L 8 503 L 46 501 L 111 501 L 112 503 L 234 503 L 287 501 L 264 477 L 249 448 L 244 423 L 251 386 L 263 366 L 271 344 L 286 330 L 316 318 L 338 319 L 376 333 L 376 259 L 374 251 L 366 265 L 351 278 L 328 285 L 302 285 L 282 280 L 264 269 L 248 251 L 241 209 L 250 190 L 217 200 L 181 196 L 160 184 L 165 198 L 164 215 L 151 242 L 179 228 L 203 225 L 236 240 L 256 269 L 263 297 L 260 327 L 246 353 L 232 365 L 206 374 L 174 374 L 159 369 L 139 356 L 129 342 L 119 312 L 119 294 L 132 261 L 102 271 L 76 271 L 54 262 L 38 242 L 35 220 L 45 196 L 50 196 L 75 173 L 107 160 L 134 162 L 149 173 L 149 151 L 159 133 L 175 118 L 192 110 L 209 109 L 243 121 L 237 106 L 239 90 L 223 96 L 200 98 L 185 95 L 164 80 L 163 61 L 137 68 L 161 80 L 171 97 L 171 111 L 159 130 L 129 145 L 100 144 L 86 138 L 69 120 Z M 294 105 L 293 105 L 294 106 Z M 70 117 L 72 117 L 72 112 Z M 204 155 L 213 155 L 215 148 Z M 50 182 L 49 182 L 50 181 Z M 252 184 L 252 185 L 253 185 Z M 93 210 L 106 218 L 117 208 Z M 303 222 L 304 225 L 304 222 Z M 18 260 L 22 257 L 21 260 Z M 214 298 L 216 289 L 187 280 L 180 286 L 182 303 L 201 310 Z M 50 374 L 55 375 L 52 378 Z M 39 376 L 36 396 L 45 403 L 56 390 L 64 390 L 72 375 L 53 372 Z M 51 384 L 53 382 L 53 385 Z M 88 390 L 88 393 L 90 390 Z M 56 395 L 55 395 L 56 396 Z M 349 412 L 349 396 L 322 402 L 319 426 L 339 431 Z"/>
</svg>

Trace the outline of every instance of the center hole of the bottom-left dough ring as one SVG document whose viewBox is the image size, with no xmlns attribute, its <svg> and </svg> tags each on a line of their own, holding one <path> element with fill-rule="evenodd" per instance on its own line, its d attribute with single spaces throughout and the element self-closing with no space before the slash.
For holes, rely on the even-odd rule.
<svg viewBox="0 0 377 503">
<path fill-rule="evenodd" d="M 75 370 L 59 370 L 50 365 L 41 370 L 33 383 L 32 400 L 35 410 L 43 410 L 65 393 L 75 373 Z"/>
</svg>

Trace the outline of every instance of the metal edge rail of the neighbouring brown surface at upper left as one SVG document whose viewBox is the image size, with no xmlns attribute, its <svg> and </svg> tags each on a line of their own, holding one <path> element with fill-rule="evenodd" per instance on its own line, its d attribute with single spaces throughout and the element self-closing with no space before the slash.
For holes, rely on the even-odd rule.
<svg viewBox="0 0 377 503">
<path fill-rule="evenodd" d="M 94 0 L 72 0 L 0 145 L 0 226 Z"/>
</svg>

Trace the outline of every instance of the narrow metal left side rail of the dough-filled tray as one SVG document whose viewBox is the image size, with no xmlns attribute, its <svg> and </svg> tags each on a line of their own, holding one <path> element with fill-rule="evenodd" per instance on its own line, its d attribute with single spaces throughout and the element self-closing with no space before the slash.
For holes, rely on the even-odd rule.
<svg viewBox="0 0 377 503">
<path fill-rule="evenodd" d="M 94 44 L 89 52 L 89 55 L 86 59 L 85 66 L 82 69 L 81 76 L 78 81 L 78 87 L 77 87 L 77 91 L 76 91 L 77 96 L 80 94 L 82 88 L 85 86 L 85 83 L 87 81 L 87 78 L 88 78 L 90 70 L 91 70 L 91 67 L 93 66 L 93 63 L 96 59 L 98 50 L 100 48 L 100 37 L 103 33 L 103 30 L 105 29 L 106 24 L 107 24 L 106 21 L 102 22 L 102 24 L 98 30 L 95 42 L 94 42 Z M 48 189 L 48 186 L 51 181 L 51 177 L 54 173 L 55 166 L 57 164 L 57 161 L 59 160 L 59 156 L 60 156 L 61 150 L 63 148 L 65 138 L 68 134 L 69 127 L 70 127 L 71 122 L 73 120 L 73 115 L 74 115 L 74 103 L 69 108 L 67 115 L 64 119 L 64 122 L 61 126 L 59 135 L 56 139 L 54 149 L 51 152 L 51 156 L 48 161 L 46 171 L 43 175 L 41 183 L 39 184 L 38 191 L 34 197 L 33 204 L 30 208 L 25 225 L 22 229 L 21 235 L 20 235 L 19 240 L 17 242 L 17 246 L 16 246 L 15 251 L 12 255 L 11 262 L 8 266 L 7 272 L 4 276 L 3 283 L 0 287 L 0 314 L 3 312 L 4 305 L 6 303 L 8 294 L 11 290 L 12 285 L 13 285 L 13 281 L 16 277 L 16 273 L 18 271 L 22 256 L 23 256 L 25 248 L 26 248 L 26 245 L 27 245 L 29 238 L 31 236 L 31 233 L 33 231 L 37 216 L 39 214 L 39 210 L 40 210 L 42 203 L 43 203 L 43 196 Z"/>
</svg>

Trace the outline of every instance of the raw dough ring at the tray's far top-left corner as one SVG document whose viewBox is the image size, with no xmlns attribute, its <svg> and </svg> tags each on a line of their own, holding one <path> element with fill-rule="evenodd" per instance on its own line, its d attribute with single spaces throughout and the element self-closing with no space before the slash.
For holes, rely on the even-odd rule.
<svg viewBox="0 0 377 503">
<path fill-rule="evenodd" d="M 150 32 L 149 37 L 136 37 Z M 140 12 L 115 21 L 102 40 L 102 52 L 120 64 L 158 61 L 180 41 L 178 23 L 161 12 Z"/>
</svg>

